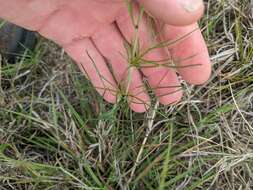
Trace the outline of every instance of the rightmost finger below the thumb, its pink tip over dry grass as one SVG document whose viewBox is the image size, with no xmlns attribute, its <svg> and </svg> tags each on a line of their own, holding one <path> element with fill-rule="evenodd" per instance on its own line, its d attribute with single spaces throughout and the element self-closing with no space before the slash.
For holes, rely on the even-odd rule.
<svg viewBox="0 0 253 190">
<path fill-rule="evenodd" d="M 191 84 L 202 84 L 211 75 L 211 63 L 206 43 L 197 24 L 164 27 L 165 40 L 178 42 L 169 47 L 179 74 Z M 181 40 L 179 39 L 181 38 Z"/>
</svg>

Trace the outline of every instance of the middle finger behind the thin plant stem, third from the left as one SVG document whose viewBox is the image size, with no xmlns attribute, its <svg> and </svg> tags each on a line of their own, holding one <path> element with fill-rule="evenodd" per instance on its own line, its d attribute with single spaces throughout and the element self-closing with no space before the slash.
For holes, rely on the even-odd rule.
<svg viewBox="0 0 253 190">
<path fill-rule="evenodd" d="M 136 18 L 135 20 L 138 20 L 139 13 L 137 7 L 134 7 L 133 14 Z M 151 30 L 146 19 L 146 17 L 141 18 L 138 26 L 137 33 L 141 46 L 141 53 L 139 52 L 139 54 L 157 44 L 157 38 L 150 33 Z M 127 10 L 121 11 L 121 15 L 117 18 L 117 24 L 125 38 L 130 43 L 134 43 L 136 31 Z M 142 72 L 147 77 L 150 87 L 154 90 L 159 101 L 166 105 L 178 102 L 182 97 L 176 73 L 173 69 L 169 68 L 168 63 L 161 65 L 161 60 L 168 60 L 169 58 L 170 56 L 166 49 L 157 48 L 145 54 L 141 61 Z"/>
</svg>

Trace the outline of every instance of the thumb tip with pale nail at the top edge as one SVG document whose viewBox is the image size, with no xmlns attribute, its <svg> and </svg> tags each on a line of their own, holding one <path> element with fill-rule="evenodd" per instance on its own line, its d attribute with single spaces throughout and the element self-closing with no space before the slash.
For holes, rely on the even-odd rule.
<svg viewBox="0 0 253 190">
<path fill-rule="evenodd" d="M 147 12 L 171 25 L 189 25 L 203 14 L 203 0 L 138 0 Z"/>
</svg>

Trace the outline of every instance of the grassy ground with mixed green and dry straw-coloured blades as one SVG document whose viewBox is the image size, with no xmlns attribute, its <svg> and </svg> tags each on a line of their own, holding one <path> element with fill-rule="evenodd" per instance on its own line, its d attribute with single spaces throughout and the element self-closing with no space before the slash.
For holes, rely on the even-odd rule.
<svg viewBox="0 0 253 190">
<path fill-rule="evenodd" d="M 253 15 L 209 0 L 213 74 L 149 113 L 106 104 L 61 48 L 40 40 L 0 69 L 0 189 L 252 189 Z"/>
</svg>

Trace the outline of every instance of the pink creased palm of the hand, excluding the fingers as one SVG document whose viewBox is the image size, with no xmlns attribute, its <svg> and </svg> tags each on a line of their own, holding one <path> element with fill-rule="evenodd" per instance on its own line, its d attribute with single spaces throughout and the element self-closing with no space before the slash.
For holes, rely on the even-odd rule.
<svg viewBox="0 0 253 190">
<path fill-rule="evenodd" d="M 0 16 L 64 45 L 78 38 L 90 37 L 98 28 L 115 20 L 123 3 L 101 2 L 12 0 L 11 3 L 1 2 Z"/>
</svg>

